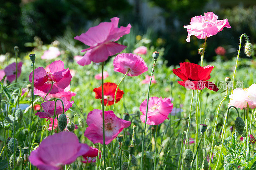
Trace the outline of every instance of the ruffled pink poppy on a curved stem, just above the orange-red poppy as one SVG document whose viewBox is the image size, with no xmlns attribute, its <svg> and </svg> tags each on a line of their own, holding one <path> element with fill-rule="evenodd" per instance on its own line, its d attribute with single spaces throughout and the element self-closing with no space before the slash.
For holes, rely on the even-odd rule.
<svg viewBox="0 0 256 170">
<path fill-rule="evenodd" d="M 127 76 L 139 76 L 148 71 L 145 61 L 139 55 L 132 53 L 118 54 L 114 59 L 113 65 L 114 71 L 123 74 L 126 74 L 128 69 L 130 69 Z"/>
</svg>

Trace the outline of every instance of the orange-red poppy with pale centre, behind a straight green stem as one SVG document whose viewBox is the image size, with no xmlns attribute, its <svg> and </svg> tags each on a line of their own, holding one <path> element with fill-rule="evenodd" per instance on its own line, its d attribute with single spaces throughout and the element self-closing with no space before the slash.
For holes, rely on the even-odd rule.
<svg viewBox="0 0 256 170">
<path fill-rule="evenodd" d="M 104 83 L 103 84 L 103 90 L 104 90 L 104 105 L 113 105 L 114 104 L 114 100 L 115 100 L 115 92 L 116 92 L 116 87 L 117 85 L 115 83 Z M 101 86 L 99 88 L 94 88 L 93 92 L 95 92 L 95 98 L 96 99 L 102 99 L 102 95 L 101 95 Z M 116 103 L 118 101 L 120 101 L 123 97 L 124 91 L 120 90 L 119 88 L 117 89 L 117 93 L 116 93 Z M 102 103 L 102 101 L 100 101 Z"/>
</svg>

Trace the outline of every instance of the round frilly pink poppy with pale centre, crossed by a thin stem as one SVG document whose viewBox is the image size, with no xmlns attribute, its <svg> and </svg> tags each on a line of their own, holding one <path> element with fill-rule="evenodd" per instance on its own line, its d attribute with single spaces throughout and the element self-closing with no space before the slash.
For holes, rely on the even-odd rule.
<svg viewBox="0 0 256 170">
<path fill-rule="evenodd" d="M 145 99 L 140 104 L 140 120 L 144 123 L 146 119 L 146 108 L 147 108 L 147 99 Z M 148 101 L 148 125 L 158 125 L 163 123 L 165 119 L 169 119 L 168 115 L 172 112 L 173 104 L 171 103 L 170 98 L 162 97 L 151 97 Z"/>
</svg>

